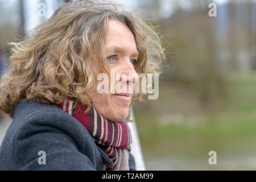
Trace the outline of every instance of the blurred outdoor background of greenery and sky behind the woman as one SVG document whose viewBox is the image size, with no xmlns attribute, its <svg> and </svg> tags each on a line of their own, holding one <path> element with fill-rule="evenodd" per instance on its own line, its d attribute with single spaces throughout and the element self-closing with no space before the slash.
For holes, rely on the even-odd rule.
<svg viewBox="0 0 256 182">
<path fill-rule="evenodd" d="M 134 106 L 147 170 L 256 169 L 256 1 L 115 1 L 163 35 L 159 98 Z M 210 17 L 210 3 L 217 16 Z M 39 17 L 39 3 L 46 16 Z M 0 72 L 9 45 L 63 0 L 0 0 Z M 0 121 L 0 143 L 10 125 Z M 217 164 L 210 165 L 209 151 Z"/>
</svg>

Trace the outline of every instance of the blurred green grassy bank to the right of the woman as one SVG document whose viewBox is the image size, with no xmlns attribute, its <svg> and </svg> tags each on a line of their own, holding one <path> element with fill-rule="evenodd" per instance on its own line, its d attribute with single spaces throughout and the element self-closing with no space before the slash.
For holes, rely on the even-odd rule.
<svg viewBox="0 0 256 182">
<path fill-rule="evenodd" d="M 134 111 L 143 153 L 256 154 L 256 73 L 230 73 L 228 85 L 228 97 L 212 107 L 182 86 L 160 85 L 159 99 Z"/>
</svg>

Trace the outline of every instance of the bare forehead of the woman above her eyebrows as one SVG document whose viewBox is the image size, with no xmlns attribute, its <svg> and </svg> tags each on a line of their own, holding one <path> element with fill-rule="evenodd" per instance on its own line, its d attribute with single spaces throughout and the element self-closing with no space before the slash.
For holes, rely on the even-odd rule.
<svg viewBox="0 0 256 182">
<path fill-rule="evenodd" d="M 118 20 L 110 19 L 106 32 L 106 49 L 109 50 L 113 47 L 137 51 L 135 39 L 129 27 Z"/>
</svg>

